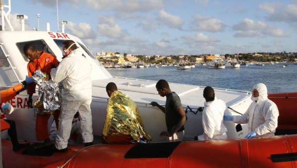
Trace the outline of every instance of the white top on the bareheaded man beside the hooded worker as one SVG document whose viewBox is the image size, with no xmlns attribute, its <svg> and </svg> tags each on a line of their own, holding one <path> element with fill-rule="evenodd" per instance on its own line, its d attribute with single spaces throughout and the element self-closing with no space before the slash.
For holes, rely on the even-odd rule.
<svg viewBox="0 0 297 168">
<path fill-rule="evenodd" d="M 227 139 L 227 128 L 223 123 L 224 112 L 228 112 L 226 103 L 215 97 L 214 101 L 204 102 L 202 112 L 203 134 L 198 136 L 199 141 Z"/>
</svg>

